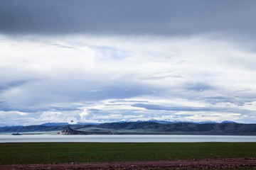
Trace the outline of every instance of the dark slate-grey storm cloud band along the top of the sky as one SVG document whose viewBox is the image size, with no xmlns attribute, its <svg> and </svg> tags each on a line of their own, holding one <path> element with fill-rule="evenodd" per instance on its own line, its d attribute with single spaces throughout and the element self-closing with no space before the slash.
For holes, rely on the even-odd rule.
<svg viewBox="0 0 256 170">
<path fill-rule="evenodd" d="M 1 1 L 1 33 L 253 33 L 256 1 Z"/>
</svg>

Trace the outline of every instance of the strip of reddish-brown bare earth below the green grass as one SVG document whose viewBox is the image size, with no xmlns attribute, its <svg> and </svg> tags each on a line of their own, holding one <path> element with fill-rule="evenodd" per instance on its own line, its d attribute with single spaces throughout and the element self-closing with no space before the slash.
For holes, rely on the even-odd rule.
<svg viewBox="0 0 256 170">
<path fill-rule="evenodd" d="M 256 158 L 193 159 L 157 162 L 105 162 L 3 165 L 0 169 L 256 169 Z"/>
</svg>

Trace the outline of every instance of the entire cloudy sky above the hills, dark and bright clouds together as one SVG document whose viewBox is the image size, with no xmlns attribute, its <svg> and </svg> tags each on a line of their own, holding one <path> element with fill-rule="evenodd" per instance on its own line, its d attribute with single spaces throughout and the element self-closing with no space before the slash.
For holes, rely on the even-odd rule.
<svg viewBox="0 0 256 170">
<path fill-rule="evenodd" d="M 0 1 L 0 126 L 256 123 L 256 1 Z"/>
</svg>

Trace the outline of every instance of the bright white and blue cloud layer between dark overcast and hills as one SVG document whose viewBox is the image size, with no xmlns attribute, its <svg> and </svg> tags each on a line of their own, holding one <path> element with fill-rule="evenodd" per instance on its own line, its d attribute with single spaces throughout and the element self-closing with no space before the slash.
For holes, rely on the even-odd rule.
<svg viewBox="0 0 256 170">
<path fill-rule="evenodd" d="M 254 123 L 255 52 L 159 36 L 1 35 L 1 124 Z"/>
</svg>

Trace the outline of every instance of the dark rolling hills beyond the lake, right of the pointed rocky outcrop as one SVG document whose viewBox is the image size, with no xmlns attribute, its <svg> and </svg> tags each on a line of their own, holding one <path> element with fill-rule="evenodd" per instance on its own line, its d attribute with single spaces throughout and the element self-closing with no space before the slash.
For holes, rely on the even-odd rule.
<svg viewBox="0 0 256 170">
<path fill-rule="evenodd" d="M 161 134 L 161 135 L 256 135 L 256 124 L 238 123 L 104 123 L 72 126 L 87 134 Z"/>
</svg>

